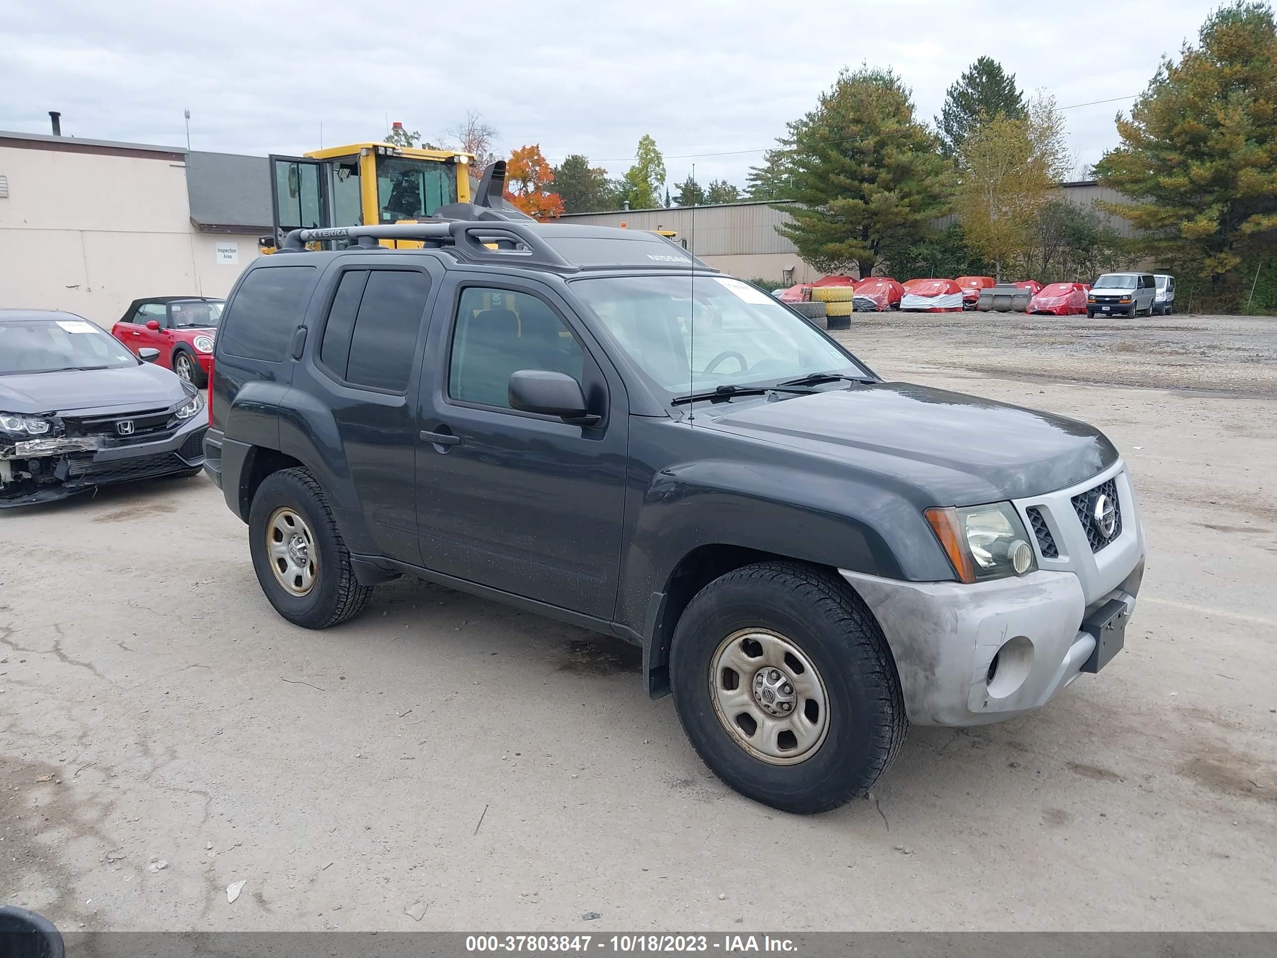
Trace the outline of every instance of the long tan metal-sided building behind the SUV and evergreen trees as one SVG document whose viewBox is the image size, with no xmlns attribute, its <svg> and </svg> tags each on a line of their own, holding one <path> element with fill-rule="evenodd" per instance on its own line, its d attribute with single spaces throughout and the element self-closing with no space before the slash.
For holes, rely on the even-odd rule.
<svg viewBox="0 0 1277 958">
<path fill-rule="evenodd" d="M 1065 183 L 1059 192 L 1062 199 L 1088 209 L 1096 199 L 1125 202 L 1120 193 L 1099 186 L 1094 180 Z M 1117 235 L 1131 235 L 1126 220 L 1096 212 Z M 798 258 L 793 243 L 776 232 L 776 226 L 789 222 L 789 215 L 771 203 L 566 213 L 561 220 L 593 226 L 627 226 L 631 230 L 673 230 L 678 234 L 677 241 L 710 266 L 744 278 L 806 282 L 821 276 L 819 270 Z M 945 216 L 932 221 L 932 226 L 944 229 L 954 220 L 953 215 Z"/>
</svg>

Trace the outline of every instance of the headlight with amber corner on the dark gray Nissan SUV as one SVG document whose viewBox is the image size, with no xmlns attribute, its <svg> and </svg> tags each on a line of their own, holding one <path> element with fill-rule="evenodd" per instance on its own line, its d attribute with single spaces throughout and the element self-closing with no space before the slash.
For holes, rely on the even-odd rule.
<svg viewBox="0 0 1277 958">
<path fill-rule="evenodd" d="M 928 508 L 927 521 L 964 582 L 1022 576 L 1037 567 L 1024 524 L 1009 502 Z"/>
</svg>

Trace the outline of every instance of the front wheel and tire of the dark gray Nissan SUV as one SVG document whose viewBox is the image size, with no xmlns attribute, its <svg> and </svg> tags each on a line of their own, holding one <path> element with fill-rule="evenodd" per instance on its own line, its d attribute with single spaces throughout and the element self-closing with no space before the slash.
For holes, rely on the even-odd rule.
<svg viewBox="0 0 1277 958">
<path fill-rule="evenodd" d="M 718 664 L 733 657 L 744 663 L 739 657 L 755 648 L 748 645 L 752 635 L 773 644 L 779 636 L 811 664 L 808 672 L 794 669 L 792 655 L 783 659 L 792 674 L 783 674 L 782 681 L 794 682 L 780 687 L 796 699 L 788 719 L 767 719 L 762 700 L 755 695 L 759 676 L 775 671 L 769 667 L 752 677 L 736 673 L 732 691 L 744 690 L 742 697 L 752 706 L 724 705 L 720 699 L 719 686 L 732 669 Z M 801 678 L 805 674 L 807 680 Z M 674 630 L 670 681 L 678 718 L 701 760 L 741 795 L 782 811 L 810 815 L 865 795 L 891 766 L 908 727 L 895 662 L 868 608 L 831 574 L 796 562 L 744 566 L 701 589 Z M 824 695 L 827 708 L 817 703 L 810 711 L 803 681 L 806 688 Z M 765 695 L 766 688 L 759 687 Z M 776 699 L 773 708 L 782 704 Z M 746 711 L 728 717 L 734 708 Z M 748 713 L 751 708 L 753 713 Z M 808 722 L 815 715 L 817 723 L 824 720 L 824 731 L 819 741 L 807 745 L 790 733 L 790 750 L 799 751 L 785 757 L 773 747 L 773 757 L 766 757 L 743 743 L 748 723 L 741 715 L 755 713 L 764 723 L 755 722 L 755 732 L 748 734 L 761 733 L 757 742 L 762 747 L 771 747 L 766 731 L 785 722 L 802 724 L 811 737 L 817 734 Z M 729 722 L 739 731 L 729 731 Z M 784 732 L 774 742 L 783 741 L 782 736 Z"/>
</svg>

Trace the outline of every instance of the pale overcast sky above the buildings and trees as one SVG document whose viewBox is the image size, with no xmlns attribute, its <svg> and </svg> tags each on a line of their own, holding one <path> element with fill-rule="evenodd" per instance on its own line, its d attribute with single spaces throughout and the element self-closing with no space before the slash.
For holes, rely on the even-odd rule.
<svg viewBox="0 0 1277 958">
<path fill-rule="evenodd" d="M 844 65 L 891 66 L 931 121 L 981 54 L 1061 107 L 1139 93 L 1214 4 L 56 3 L 0 0 L 0 129 L 300 153 L 427 137 L 478 110 L 508 152 L 622 172 L 650 133 L 669 183 L 743 184 Z M 1130 100 L 1068 110 L 1075 160 L 1116 143 Z M 733 151 L 753 151 L 738 152 Z M 719 153 L 719 156 L 686 155 Z M 686 158 L 684 158 L 686 157 Z"/>
</svg>

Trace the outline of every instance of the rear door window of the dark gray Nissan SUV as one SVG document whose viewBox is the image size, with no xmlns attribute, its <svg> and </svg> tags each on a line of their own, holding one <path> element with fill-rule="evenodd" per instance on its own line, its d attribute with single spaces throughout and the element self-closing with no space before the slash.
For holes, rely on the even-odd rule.
<svg viewBox="0 0 1277 958">
<path fill-rule="evenodd" d="M 429 277 L 415 271 L 344 273 L 319 361 L 352 386 L 405 392 L 429 293 Z"/>
</svg>

